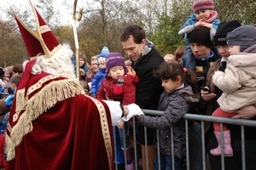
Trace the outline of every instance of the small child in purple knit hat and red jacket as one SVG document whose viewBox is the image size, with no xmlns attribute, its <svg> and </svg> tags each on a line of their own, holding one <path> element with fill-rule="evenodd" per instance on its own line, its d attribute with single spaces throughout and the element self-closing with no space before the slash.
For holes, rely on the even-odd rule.
<svg viewBox="0 0 256 170">
<path fill-rule="evenodd" d="M 106 77 L 102 80 L 102 86 L 98 90 L 97 99 L 116 100 L 121 105 L 129 105 L 135 103 L 136 100 L 136 84 L 139 78 L 129 67 L 125 66 L 124 57 L 119 53 L 110 53 L 106 57 Z M 122 117 L 123 118 L 123 117 Z M 125 121 L 125 122 L 124 122 Z M 125 142 L 123 133 L 128 129 L 128 120 L 119 122 L 118 128 L 119 139 L 122 144 L 123 154 L 126 153 L 127 169 L 134 169 L 134 158 L 131 149 L 129 136 L 126 136 Z M 125 124 L 125 128 L 123 126 Z M 126 152 L 125 152 L 126 150 Z"/>
</svg>

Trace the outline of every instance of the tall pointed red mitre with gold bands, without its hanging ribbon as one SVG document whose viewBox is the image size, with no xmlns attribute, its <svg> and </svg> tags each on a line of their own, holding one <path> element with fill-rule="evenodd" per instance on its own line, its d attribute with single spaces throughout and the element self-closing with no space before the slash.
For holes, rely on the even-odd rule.
<svg viewBox="0 0 256 170">
<path fill-rule="evenodd" d="M 17 14 L 15 14 L 14 9 L 11 8 L 15 15 L 15 20 L 20 28 L 20 33 L 25 43 L 26 51 L 30 59 L 36 59 L 38 54 L 44 55 L 45 58 L 49 58 L 55 53 L 55 51 L 61 48 L 61 44 L 49 29 L 49 26 L 46 25 L 44 19 L 32 5 L 30 0 L 29 3 L 31 4 L 32 11 L 35 15 L 37 31 L 32 31 L 32 29 L 26 26 Z"/>
</svg>

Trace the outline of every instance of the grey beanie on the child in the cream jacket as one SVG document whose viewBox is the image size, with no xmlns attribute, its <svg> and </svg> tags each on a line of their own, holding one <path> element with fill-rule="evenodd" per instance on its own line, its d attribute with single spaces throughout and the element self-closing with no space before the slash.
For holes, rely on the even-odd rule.
<svg viewBox="0 0 256 170">
<path fill-rule="evenodd" d="M 239 26 L 227 34 L 229 45 L 240 45 L 240 51 L 256 44 L 256 28 L 254 26 Z"/>
</svg>

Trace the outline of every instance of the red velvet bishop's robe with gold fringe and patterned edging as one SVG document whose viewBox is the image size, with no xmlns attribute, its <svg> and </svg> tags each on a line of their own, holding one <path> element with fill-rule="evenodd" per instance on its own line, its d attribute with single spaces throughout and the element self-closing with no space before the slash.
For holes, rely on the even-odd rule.
<svg viewBox="0 0 256 170">
<path fill-rule="evenodd" d="M 8 170 L 113 169 L 105 103 L 65 77 L 42 72 L 20 82 L 6 136 Z"/>
</svg>

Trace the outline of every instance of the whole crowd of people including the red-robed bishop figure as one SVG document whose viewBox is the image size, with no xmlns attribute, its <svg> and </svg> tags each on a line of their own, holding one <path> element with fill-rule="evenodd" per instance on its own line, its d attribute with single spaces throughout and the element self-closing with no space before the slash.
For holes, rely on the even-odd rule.
<svg viewBox="0 0 256 170">
<path fill-rule="evenodd" d="M 0 92 L 8 94 L 0 99 L 0 169 L 201 170 L 203 147 L 212 170 L 221 169 L 222 154 L 224 169 L 241 169 L 241 129 L 231 124 L 205 122 L 202 131 L 200 121 L 190 120 L 186 161 L 183 115 L 255 120 L 256 28 L 218 20 L 212 0 L 195 0 L 192 8 L 177 32 L 186 46 L 175 54 L 163 57 L 143 28 L 131 25 L 119 39 L 125 56 L 102 47 L 90 63 L 83 53 L 75 61 L 33 5 L 38 34 L 13 11 L 31 60 L 0 68 Z M 146 116 L 142 109 L 164 114 Z M 256 128 L 244 132 L 246 169 L 254 170 Z"/>
</svg>

